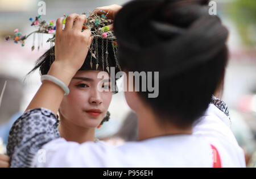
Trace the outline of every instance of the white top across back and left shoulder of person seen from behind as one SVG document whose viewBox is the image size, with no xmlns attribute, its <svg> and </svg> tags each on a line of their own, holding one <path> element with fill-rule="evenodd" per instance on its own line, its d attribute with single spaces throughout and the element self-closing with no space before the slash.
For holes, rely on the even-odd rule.
<svg viewBox="0 0 256 179">
<path fill-rule="evenodd" d="M 170 139 L 170 140 L 169 140 Z M 184 138 L 185 139 L 185 138 Z M 193 147 L 193 148 L 191 148 Z M 207 166 L 212 163 L 209 143 L 194 137 L 182 142 L 167 137 L 162 140 L 134 141 L 115 147 L 105 143 L 53 140 L 34 158 L 37 167 L 171 167 Z M 201 156 L 200 159 L 198 156 Z M 185 157 L 184 157 L 185 156 Z M 197 161 L 197 162 L 196 162 Z"/>
</svg>

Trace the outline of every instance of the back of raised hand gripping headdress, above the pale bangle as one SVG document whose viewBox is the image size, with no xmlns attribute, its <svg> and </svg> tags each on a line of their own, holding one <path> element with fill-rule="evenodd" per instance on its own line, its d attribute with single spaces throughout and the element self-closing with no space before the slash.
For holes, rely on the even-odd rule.
<svg viewBox="0 0 256 179">
<path fill-rule="evenodd" d="M 64 18 L 59 18 L 56 21 L 55 64 L 76 73 L 88 54 L 88 47 L 92 43 L 91 32 L 90 30 L 82 32 L 82 26 L 87 22 L 84 14 L 68 15 L 64 30 L 63 20 Z"/>
</svg>

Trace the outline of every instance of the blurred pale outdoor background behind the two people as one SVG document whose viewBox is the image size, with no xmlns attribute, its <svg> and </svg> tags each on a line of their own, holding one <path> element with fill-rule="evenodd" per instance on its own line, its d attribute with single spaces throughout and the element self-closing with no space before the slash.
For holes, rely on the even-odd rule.
<svg viewBox="0 0 256 179">
<path fill-rule="evenodd" d="M 6 141 L 6 126 L 10 125 L 27 107 L 41 82 L 38 71 L 26 77 L 35 61 L 49 49 L 46 40 L 52 35 L 43 35 L 43 47 L 31 51 L 32 36 L 22 47 L 13 41 L 5 41 L 5 36 L 14 34 L 16 28 L 23 34 L 35 30 L 29 18 L 38 16 L 37 0 L 0 0 L 0 94 L 7 81 L 5 93 L 0 103 L 0 138 Z M 42 19 L 56 21 L 63 14 L 81 14 L 96 7 L 112 4 L 123 5 L 127 0 L 45 0 L 46 15 Z M 217 15 L 228 28 L 230 58 L 224 84 L 223 99 L 229 106 L 232 130 L 238 143 L 245 150 L 248 166 L 255 166 L 256 139 L 256 1 L 216 0 Z M 38 44 L 36 36 L 35 45 Z M 121 82 L 119 82 L 120 84 Z M 109 139 L 120 134 L 123 122 L 136 118 L 131 114 L 122 92 L 113 95 L 110 104 L 110 120 L 96 131 L 96 136 Z M 126 120 L 127 119 L 127 120 Z M 131 126 L 136 125 L 130 120 Z M 127 132 L 128 134 L 129 132 Z M 120 135 L 123 136 L 124 134 Z M 136 135 L 136 131 L 134 131 Z M 125 140 L 134 140 L 129 136 Z M 116 142 L 116 141 L 115 141 Z M 122 143 L 123 140 L 120 141 Z M 0 139 L 1 144 L 1 139 Z M 0 148 L 1 151 L 1 148 Z M 254 157 L 254 160 L 253 160 Z"/>
</svg>

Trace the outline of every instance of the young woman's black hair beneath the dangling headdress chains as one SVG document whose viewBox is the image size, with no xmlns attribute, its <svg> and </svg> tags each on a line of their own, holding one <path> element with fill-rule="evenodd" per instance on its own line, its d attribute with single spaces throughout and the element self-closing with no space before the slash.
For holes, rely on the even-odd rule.
<svg viewBox="0 0 256 179">
<path fill-rule="evenodd" d="M 105 58 L 106 40 L 105 39 L 102 40 L 101 38 L 94 38 L 93 39 L 94 44 L 95 44 L 96 40 L 98 42 L 98 53 L 99 53 L 97 70 L 102 71 L 102 69 L 103 69 L 102 68 L 102 53 L 104 54 L 104 58 Z M 102 42 L 103 42 L 103 47 L 104 47 L 103 49 L 102 49 Z M 52 64 L 51 63 L 51 49 L 52 49 L 53 53 L 55 52 L 55 46 L 48 49 L 42 56 L 39 57 L 39 59 L 36 61 L 35 67 L 28 74 L 31 74 L 36 69 L 39 69 L 39 73 L 41 76 L 48 73 L 48 71 L 51 67 L 51 64 Z M 112 42 L 109 40 L 108 41 L 108 64 L 109 64 L 109 68 L 115 67 L 115 74 L 116 74 L 120 70 L 117 66 L 113 50 L 114 49 L 112 46 Z M 91 58 L 92 58 L 92 62 L 93 62 L 93 68 L 91 68 L 91 66 L 90 66 Z M 54 56 L 53 56 L 53 60 L 55 60 Z M 96 59 L 91 55 L 90 51 L 88 51 L 88 55 L 85 57 L 84 64 L 81 66 L 81 68 L 79 70 L 96 70 Z M 106 69 L 106 61 L 105 60 L 104 60 L 104 71 L 108 72 L 108 70 Z M 115 79 L 113 79 L 113 80 L 115 80 Z M 116 81 L 114 81 L 114 82 L 115 82 L 115 91 L 113 93 L 118 93 Z"/>
</svg>

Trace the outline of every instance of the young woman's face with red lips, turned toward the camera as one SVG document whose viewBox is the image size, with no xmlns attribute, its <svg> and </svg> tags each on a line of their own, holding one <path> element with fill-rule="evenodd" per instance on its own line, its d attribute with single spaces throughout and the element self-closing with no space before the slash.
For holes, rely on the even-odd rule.
<svg viewBox="0 0 256 179">
<path fill-rule="evenodd" d="M 97 78 L 96 70 L 81 70 L 72 78 L 68 88 L 70 93 L 64 96 L 59 113 L 60 120 L 68 120 L 80 127 L 97 127 L 112 99 L 112 92 L 100 91 L 98 88 L 109 89 L 110 77 Z M 101 80 L 104 79 L 104 84 Z"/>
</svg>

